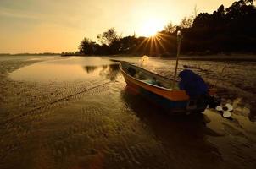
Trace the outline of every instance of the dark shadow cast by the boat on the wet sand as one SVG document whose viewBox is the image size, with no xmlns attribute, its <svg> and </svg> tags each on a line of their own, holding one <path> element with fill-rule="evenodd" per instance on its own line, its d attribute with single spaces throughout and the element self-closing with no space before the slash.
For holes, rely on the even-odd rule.
<svg viewBox="0 0 256 169">
<path fill-rule="evenodd" d="M 129 87 L 121 93 L 123 101 L 155 134 L 175 164 L 184 168 L 215 168 L 221 161 L 220 153 L 206 140 L 207 136 L 219 136 L 206 127 L 203 114 L 198 116 L 170 116 L 131 92 Z M 215 166 L 209 166 L 213 163 Z M 190 166 L 193 164 L 193 166 Z M 187 166 L 186 166 L 187 165 Z"/>
</svg>

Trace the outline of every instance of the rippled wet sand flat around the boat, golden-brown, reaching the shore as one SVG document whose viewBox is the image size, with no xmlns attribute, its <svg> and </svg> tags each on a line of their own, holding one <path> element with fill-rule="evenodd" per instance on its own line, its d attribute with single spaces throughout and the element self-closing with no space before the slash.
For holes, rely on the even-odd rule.
<svg viewBox="0 0 256 169">
<path fill-rule="evenodd" d="M 235 108 L 225 119 L 210 109 L 169 116 L 126 88 L 116 63 L 76 58 L 0 60 L 0 168 L 256 166 L 255 63 L 181 61 L 179 70 L 189 67 L 209 84 L 218 81 L 223 102 Z M 72 79 L 66 71 L 56 79 L 46 70 L 48 79 L 40 81 L 19 74 L 52 64 L 57 69 L 56 62 L 81 65 L 85 77 Z M 145 68 L 170 77 L 174 63 L 150 59 Z"/>
</svg>

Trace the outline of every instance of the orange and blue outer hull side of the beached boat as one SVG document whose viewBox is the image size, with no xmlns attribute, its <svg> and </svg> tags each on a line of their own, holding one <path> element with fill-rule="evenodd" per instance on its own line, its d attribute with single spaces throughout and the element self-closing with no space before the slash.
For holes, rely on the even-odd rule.
<svg viewBox="0 0 256 169">
<path fill-rule="evenodd" d="M 135 79 L 121 68 L 121 63 L 120 70 L 126 84 L 132 90 L 136 91 L 137 94 L 144 96 L 156 106 L 160 106 L 165 112 L 203 112 L 207 106 L 205 98 L 191 101 L 184 90 L 164 90 Z"/>
</svg>

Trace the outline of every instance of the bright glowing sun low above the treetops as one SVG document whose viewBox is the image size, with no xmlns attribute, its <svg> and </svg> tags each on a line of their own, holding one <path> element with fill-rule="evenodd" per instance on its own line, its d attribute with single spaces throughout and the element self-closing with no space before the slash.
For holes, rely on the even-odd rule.
<svg viewBox="0 0 256 169">
<path fill-rule="evenodd" d="M 141 34 L 146 37 L 154 36 L 158 31 L 163 29 L 163 25 L 159 19 L 147 19 L 141 26 Z"/>
</svg>

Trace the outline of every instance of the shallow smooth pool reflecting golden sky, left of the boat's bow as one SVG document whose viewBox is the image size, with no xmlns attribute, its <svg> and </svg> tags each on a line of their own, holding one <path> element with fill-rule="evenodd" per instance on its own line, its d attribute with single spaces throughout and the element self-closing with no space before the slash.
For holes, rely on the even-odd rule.
<svg viewBox="0 0 256 169">
<path fill-rule="evenodd" d="M 9 77 L 17 81 L 55 82 L 77 79 L 114 79 L 118 63 L 99 57 L 70 57 L 35 63 L 12 72 Z"/>
</svg>

